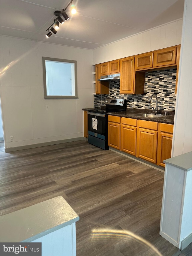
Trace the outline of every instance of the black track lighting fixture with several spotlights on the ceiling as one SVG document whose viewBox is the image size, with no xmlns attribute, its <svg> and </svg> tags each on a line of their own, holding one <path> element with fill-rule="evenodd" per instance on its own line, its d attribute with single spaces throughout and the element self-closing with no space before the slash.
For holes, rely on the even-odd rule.
<svg viewBox="0 0 192 256">
<path fill-rule="evenodd" d="M 63 9 L 62 11 L 55 11 L 54 14 L 55 16 L 57 16 L 57 18 L 54 20 L 54 23 L 51 24 L 51 26 L 46 30 L 48 31 L 48 33 L 46 34 L 46 38 L 49 38 L 52 33 L 49 32 L 49 29 L 54 33 L 56 34 L 57 33 L 57 30 L 59 29 L 59 23 L 63 24 L 64 21 L 68 20 L 69 19 L 69 16 L 66 14 L 66 10 L 67 8 L 69 7 L 69 5 L 73 2 L 70 1 L 70 3 L 67 5 L 67 7 L 65 9 Z M 72 14 L 76 14 L 76 8 L 75 8 L 75 5 L 71 5 L 71 13 Z M 63 16 L 64 20 L 61 18 L 61 15 Z M 53 28 L 53 25 L 55 26 L 55 28 Z"/>
</svg>

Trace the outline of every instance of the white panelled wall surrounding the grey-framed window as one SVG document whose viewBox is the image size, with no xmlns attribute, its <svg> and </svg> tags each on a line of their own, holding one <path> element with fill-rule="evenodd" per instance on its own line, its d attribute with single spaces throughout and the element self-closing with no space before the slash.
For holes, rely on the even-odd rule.
<svg viewBox="0 0 192 256">
<path fill-rule="evenodd" d="M 44 99 L 42 56 L 77 60 L 78 99 Z M 92 50 L 0 36 L 5 148 L 82 137 L 94 90 Z"/>
</svg>

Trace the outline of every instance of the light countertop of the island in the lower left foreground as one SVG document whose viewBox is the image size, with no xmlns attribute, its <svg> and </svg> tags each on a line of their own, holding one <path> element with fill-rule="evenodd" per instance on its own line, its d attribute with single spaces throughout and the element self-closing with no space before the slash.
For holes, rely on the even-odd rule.
<svg viewBox="0 0 192 256">
<path fill-rule="evenodd" d="M 0 217 L 0 242 L 31 242 L 79 220 L 62 196 Z"/>
</svg>

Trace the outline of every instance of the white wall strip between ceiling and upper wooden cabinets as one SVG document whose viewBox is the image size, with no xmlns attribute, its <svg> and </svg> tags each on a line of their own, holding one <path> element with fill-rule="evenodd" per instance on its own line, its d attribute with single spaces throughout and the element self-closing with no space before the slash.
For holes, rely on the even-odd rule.
<svg viewBox="0 0 192 256">
<path fill-rule="evenodd" d="M 181 44 L 181 34 L 182 20 L 174 21 L 93 50 L 93 63 L 98 64 Z"/>
</svg>

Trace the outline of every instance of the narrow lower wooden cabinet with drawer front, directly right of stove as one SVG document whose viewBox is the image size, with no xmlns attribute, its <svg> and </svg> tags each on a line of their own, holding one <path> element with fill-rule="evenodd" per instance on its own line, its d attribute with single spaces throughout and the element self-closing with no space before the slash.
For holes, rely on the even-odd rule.
<svg viewBox="0 0 192 256">
<path fill-rule="evenodd" d="M 108 116 L 108 146 L 120 150 L 120 120 L 119 116 Z"/>
</svg>

